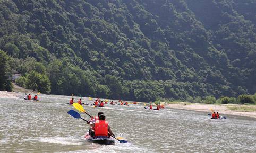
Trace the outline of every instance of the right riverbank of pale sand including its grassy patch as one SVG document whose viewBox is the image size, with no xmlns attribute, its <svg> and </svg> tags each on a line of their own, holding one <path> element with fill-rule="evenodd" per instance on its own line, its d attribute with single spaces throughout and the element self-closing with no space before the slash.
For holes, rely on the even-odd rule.
<svg viewBox="0 0 256 153">
<path fill-rule="evenodd" d="M 173 104 L 166 104 L 165 107 L 172 109 L 192 110 L 211 113 L 211 109 L 220 114 L 237 115 L 256 118 L 256 105 L 237 105 L 237 104 L 199 104 L 199 103 L 185 103 L 176 102 Z"/>
</svg>

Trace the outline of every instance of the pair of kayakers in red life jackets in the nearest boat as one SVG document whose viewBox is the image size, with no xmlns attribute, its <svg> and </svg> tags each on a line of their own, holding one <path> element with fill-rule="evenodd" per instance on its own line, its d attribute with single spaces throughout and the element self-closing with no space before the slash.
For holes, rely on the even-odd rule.
<svg viewBox="0 0 256 153">
<path fill-rule="evenodd" d="M 103 112 L 98 112 L 95 117 L 92 116 L 87 123 L 90 124 L 89 135 L 93 138 L 109 138 L 113 135 Z"/>
</svg>

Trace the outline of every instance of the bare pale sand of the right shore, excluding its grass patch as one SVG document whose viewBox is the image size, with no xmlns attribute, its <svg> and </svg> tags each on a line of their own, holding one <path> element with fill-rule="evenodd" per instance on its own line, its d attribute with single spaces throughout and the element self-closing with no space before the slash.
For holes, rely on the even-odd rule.
<svg viewBox="0 0 256 153">
<path fill-rule="evenodd" d="M 189 104 L 189 105 L 184 105 L 184 104 L 166 104 L 165 105 L 165 107 L 172 108 L 172 109 L 193 110 L 193 111 L 201 111 L 201 112 L 208 112 L 208 113 L 211 113 L 210 109 L 214 109 L 214 111 L 217 111 L 220 114 L 256 118 L 256 111 L 253 111 L 253 112 L 231 111 L 227 108 L 227 106 L 240 106 L 240 105 L 235 105 L 235 104 L 211 105 L 211 104 L 198 104 L 198 103 Z M 255 106 L 252 106 L 252 107 L 255 107 Z"/>
</svg>

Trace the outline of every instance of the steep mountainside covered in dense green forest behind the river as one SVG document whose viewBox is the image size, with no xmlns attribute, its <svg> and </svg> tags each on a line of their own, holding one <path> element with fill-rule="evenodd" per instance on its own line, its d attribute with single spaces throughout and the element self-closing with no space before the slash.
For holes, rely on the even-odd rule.
<svg viewBox="0 0 256 153">
<path fill-rule="evenodd" d="M 254 0 L 0 0 L 0 50 L 15 59 L 21 86 L 52 94 L 254 94 L 255 8 Z"/>
</svg>

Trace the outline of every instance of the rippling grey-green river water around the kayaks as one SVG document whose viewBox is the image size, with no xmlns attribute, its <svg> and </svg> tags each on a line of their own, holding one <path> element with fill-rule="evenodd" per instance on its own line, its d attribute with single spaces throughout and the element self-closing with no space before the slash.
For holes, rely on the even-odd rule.
<svg viewBox="0 0 256 153">
<path fill-rule="evenodd" d="M 39 98 L 0 98 L 0 152 L 256 152 L 254 118 L 211 120 L 204 112 L 145 110 L 144 105 L 84 106 L 91 115 L 103 111 L 113 133 L 129 142 L 97 145 L 84 139 L 86 122 L 67 114 L 74 109 L 62 105 L 69 96 Z"/>
</svg>

